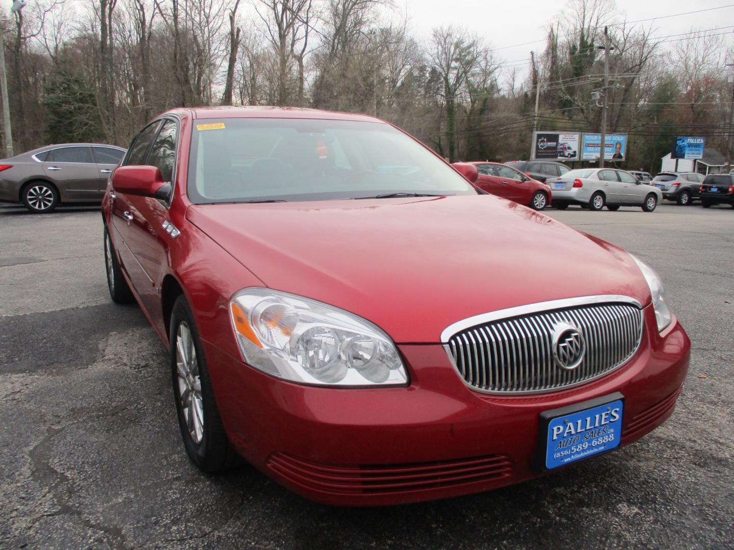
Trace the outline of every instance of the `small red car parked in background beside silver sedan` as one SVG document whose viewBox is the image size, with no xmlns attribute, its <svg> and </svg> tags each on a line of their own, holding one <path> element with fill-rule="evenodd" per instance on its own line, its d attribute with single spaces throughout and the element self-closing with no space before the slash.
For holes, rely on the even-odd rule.
<svg viewBox="0 0 734 550">
<path fill-rule="evenodd" d="M 514 200 L 535 210 L 551 205 L 551 188 L 523 172 L 498 162 L 472 162 L 479 172 L 476 185 L 498 197 Z"/>
</svg>

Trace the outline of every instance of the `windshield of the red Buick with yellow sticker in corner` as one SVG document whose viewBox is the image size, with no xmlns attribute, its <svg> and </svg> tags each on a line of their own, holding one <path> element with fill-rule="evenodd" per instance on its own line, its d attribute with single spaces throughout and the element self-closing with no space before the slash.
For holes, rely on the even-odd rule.
<svg viewBox="0 0 734 550">
<path fill-rule="evenodd" d="M 478 193 L 390 125 L 258 118 L 195 121 L 187 191 L 195 204 Z"/>
</svg>

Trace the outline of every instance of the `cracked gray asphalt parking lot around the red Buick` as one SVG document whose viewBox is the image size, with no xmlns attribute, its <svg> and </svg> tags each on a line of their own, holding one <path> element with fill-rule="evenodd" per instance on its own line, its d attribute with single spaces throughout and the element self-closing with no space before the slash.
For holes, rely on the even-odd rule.
<svg viewBox="0 0 734 550">
<path fill-rule="evenodd" d="M 693 342 L 673 416 L 617 452 L 498 491 L 316 505 L 183 452 L 164 346 L 109 301 L 97 208 L 0 206 L 0 547 L 734 546 L 734 209 L 547 210 L 661 274 Z M 570 263 L 584 258 L 569 258 Z M 538 274 L 538 284 L 543 281 Z"/>
</svg>

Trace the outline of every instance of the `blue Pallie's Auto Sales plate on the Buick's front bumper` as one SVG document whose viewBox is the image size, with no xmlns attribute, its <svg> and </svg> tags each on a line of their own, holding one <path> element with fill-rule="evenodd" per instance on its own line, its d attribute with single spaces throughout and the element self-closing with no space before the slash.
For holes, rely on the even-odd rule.
<svg viewBox="0 0 734 550">
<path fill-rule="evenodd" d="M 553 469 L 618 447 L 623 408 L 624 397 L 615 393 L 543 412 L 540 427 L 545 453 L 539 457 L 542 465 Z"/>
</svg>

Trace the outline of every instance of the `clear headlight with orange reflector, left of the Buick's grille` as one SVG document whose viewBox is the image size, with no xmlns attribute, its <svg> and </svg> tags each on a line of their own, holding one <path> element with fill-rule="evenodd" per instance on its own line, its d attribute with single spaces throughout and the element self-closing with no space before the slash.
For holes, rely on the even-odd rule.
<svg viewBox="0 0 734 550">
<path fill-rule="evenodd" d="M 232 297 L 230 317 L 242 359 L 264 373 L 327 386 L 407 383 L 390 337 L 343 309 L 253 287 Z"/>
</svg>

